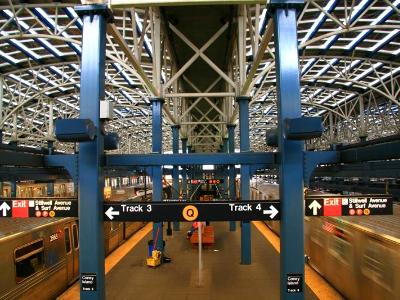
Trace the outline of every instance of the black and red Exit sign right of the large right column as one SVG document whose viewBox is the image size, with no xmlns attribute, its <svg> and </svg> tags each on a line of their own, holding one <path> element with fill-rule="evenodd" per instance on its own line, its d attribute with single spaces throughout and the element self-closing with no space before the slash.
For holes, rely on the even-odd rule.
<svg viewBox="0 0 400 300">
<path fill-rule="evenodd" d="M 309 197 L 306 216 L 339 217 L 392 215 L 392 198 L 387 195 Z"/>
</svg>

